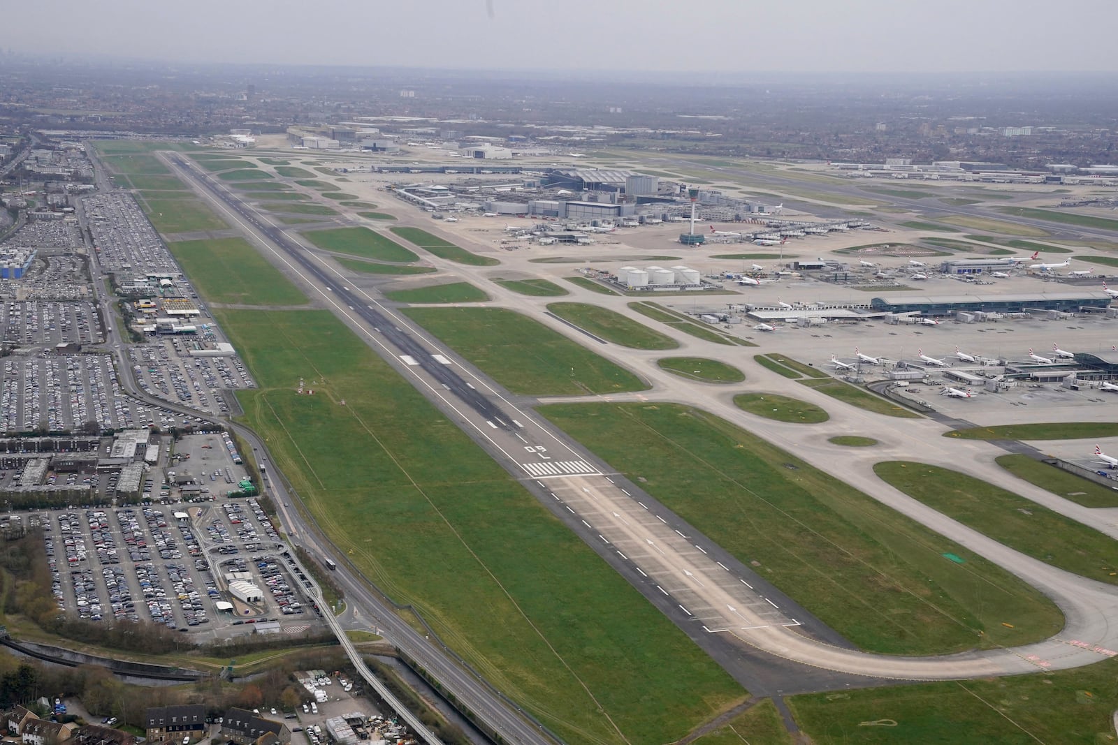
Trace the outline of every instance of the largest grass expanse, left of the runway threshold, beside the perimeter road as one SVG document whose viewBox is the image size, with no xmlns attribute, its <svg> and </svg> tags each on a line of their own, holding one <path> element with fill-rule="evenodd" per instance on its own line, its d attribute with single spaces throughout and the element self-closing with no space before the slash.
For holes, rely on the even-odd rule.
<svg viewBox="0 0 1118 745">
<path fill-rule="evenodd" d="M 330 313 L 225 311 L 219 322 L 260 385 L 238 392 L 246 422 L 339 553 L 559 737 L 674 742 L 741 699 Z M 297 393 L 301 378 L 314 395 Z"/>
</svg>

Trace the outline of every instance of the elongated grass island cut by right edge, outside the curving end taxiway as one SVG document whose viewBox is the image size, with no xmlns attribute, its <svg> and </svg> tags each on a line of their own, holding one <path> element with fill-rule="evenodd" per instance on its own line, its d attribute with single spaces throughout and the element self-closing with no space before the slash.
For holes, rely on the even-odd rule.
<svg viewBox="0 0 1118 745">
<path fill-rule="evenodd" d="M 1118 584 L 1118 542 L 1011 491 L 939 466 L 888 461 L 882 479 L 998 543 L 1099 582 Z"/>
</svg>

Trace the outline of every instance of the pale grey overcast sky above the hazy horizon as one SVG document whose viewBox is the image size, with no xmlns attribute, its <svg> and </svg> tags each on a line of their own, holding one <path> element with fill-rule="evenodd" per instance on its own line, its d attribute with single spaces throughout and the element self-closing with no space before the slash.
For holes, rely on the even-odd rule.
<svg viewBox="0 0 1118 745">
<path fill-rule="evenodd" d="M 0 47 L 457 69 L 1118 71 L 1118 0 L 32 0 Z"/>
</svg>

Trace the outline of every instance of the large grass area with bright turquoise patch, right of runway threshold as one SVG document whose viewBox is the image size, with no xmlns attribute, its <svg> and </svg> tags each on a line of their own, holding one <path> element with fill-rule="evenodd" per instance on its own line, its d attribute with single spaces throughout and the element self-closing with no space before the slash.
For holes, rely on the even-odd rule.
<svg viewBox="0 0 1118 745">
<path fill-rule="evenodd" d="M 941 655 L 1063 625 L 1022 580 L 713 414 L 665 403 L 539 411 L 862 649 Z"/>
</svg>

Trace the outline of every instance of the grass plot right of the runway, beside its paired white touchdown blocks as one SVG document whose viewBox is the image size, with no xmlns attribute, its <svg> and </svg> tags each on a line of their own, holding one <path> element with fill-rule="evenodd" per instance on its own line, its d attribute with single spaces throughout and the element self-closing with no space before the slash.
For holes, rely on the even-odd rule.
<svg viewBox="0 0 1118 745">
<path fill-rule="evenodd" d="M 407 308 L 420 326 L 513 393 L 644 391 L 636 375 L 525 315 L 504 308 Z"/>
</svg>

